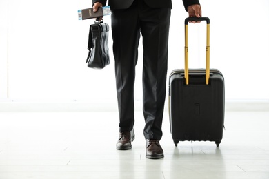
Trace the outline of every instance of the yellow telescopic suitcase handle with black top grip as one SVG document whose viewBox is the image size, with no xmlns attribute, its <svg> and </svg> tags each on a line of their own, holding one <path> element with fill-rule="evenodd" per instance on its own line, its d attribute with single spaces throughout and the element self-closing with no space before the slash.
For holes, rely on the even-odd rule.
<svg viewBox="0 0 269 179">
<path fill-rule="evenodd" d="M 206 85 L 209 84 L 210 76 L 210 19 L 208 17 L 188 17 L 185 19 L 185 81 L 189 84 L 189 67 L 188 67 L 188 22 L 189 21 L 206 21 Z"/>
</svg>

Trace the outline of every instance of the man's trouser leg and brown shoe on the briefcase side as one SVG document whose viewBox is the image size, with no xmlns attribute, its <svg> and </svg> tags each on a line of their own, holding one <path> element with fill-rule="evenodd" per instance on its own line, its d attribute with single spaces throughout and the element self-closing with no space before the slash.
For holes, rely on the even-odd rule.
<svg viewBox="0 0 269 179">
<path fill-rule="evenodd" d="M 137 10 L 133 6 L 128 10 L 112 11 L 112 37 L 119 107 L 117 149 L 130 149 L 130 142 L 135 139 L 134 84 L 140 37 Z"/>
</svg>

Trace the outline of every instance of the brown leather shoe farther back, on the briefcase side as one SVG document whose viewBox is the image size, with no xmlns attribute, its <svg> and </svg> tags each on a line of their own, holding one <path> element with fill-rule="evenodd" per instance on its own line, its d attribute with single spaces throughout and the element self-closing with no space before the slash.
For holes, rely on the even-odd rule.
<svg viewBox="0 0 269 179">
<path fill-rule="evenodd" d="M 132 141 L 135 140 L 135 131 L 123 131 L 119 133 L 119 140 L 116 144 L 118 150 L 132 149 Z"/>
</svg>

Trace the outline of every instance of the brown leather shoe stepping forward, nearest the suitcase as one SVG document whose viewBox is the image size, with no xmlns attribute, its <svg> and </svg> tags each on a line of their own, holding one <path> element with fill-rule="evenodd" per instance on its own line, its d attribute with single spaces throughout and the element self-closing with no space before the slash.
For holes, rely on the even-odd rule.
<svg viewBox="0 0 269 179">
<path fill-rule="evenodd" d="M 158 159 L 163 157 L 163 149 L 159 140 L 146 139 L 146 158 Z"/>
</svg>

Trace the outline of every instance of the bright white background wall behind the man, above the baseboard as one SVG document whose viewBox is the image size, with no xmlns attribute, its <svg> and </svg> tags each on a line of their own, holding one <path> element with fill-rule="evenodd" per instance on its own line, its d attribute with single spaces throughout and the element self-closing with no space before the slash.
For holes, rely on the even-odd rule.
<svg viewBox="0 0 269 179">
<path fill-rule="evenodd" d="M 269 100 L 269 1 L 200 0 L 210 17 L 210 67 L 223 72 L 226 100 Z M 86 67 L 88 29 L 77 10 L 91 1 L 0 1 L 0 101 L 113 101 L 114 59 L 103 70 Z M 168 76 L 183 68 L 184 19 L 173 1 Z M 110 16 L 104 17 L 110 24 Z M 205 23 L 189 25 L 190 67 L 205 67 Z M 141 39 L 142 41 L 142 39 Z M 140 45 L 135 96 L 141 101 Z M 168 86 L 168 85 L 167 85 Z M 103 102 L 101 102 L 103 103 Z"/>
</svg>

